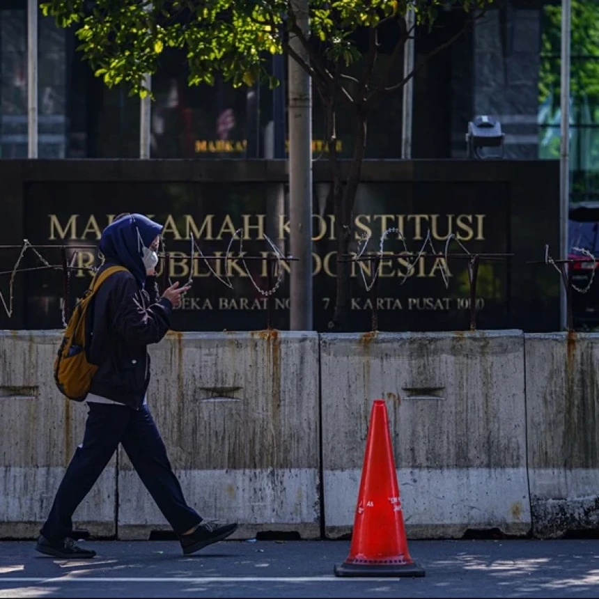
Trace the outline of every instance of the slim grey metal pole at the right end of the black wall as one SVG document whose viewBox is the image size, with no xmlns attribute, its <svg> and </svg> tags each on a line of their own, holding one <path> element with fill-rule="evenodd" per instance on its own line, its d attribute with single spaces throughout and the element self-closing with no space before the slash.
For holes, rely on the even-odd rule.
<svg viewBox="0 0 599 599">
<path fill-rule="evenodd" d="M 560 258 L 568 260 L 568 209 L 570 207 L 570 0 L 561 1 L 561 146 L 559 153 Z M 560 324 L 568 327 L 568 291 L 560 286 Z"/>
</svg>

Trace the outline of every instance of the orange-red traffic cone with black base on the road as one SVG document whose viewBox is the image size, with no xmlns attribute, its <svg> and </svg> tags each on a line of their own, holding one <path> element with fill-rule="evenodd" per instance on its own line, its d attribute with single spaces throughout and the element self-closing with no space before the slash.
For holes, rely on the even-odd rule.
<svg viewBox="0 0 599 599">
<path fill-rule="evenodd" d="M 366 439 L 366 455 L 347 559 L 336 576 L 424 576 L 407 552 L 387 406 L 375 400 Z"/>
</svg>

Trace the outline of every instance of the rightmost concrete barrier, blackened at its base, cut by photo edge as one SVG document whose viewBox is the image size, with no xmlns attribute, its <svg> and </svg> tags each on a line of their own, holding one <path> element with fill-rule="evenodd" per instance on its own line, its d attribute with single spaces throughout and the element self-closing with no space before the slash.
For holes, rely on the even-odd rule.
<svg viewBox="0 0 599 599">
<path fill-rule="evenodd" d="M 599 335 L 527 334 L 534 535 L 599 528 Z"/>
</svg>

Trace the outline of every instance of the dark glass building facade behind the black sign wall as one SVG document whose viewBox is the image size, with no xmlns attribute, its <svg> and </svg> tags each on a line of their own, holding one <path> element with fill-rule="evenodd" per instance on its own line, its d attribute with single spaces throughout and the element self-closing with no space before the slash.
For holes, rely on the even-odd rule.
<svg viewBox="0 0 599 599">
<path fill-rule="evenodd" d="M 430 59 L 414 84 L 413 157 L 465 156 L 467 123 L 490 114 L 506 133 L 510 158 L 559 155 L 559 3 L 498 0 L 472 33 Z M 445 13 L 433 35 L 416 42 L 417 60 L 463 25 Z M 572 169 L 573 194 L 594 193 L 599 102 L 599 4 L 573 1 Z M 392 41 L 392 40 L 391 40 Z M 137 157 L 139 100 L 123 87 L 109 89 L 76 52 L 74 31 L 39 22 L 39 155 L 53 158 Z M 26 0 L 0 4 L 0 152 L 26 157 Z M 165 52 L 153 78 L 153 157 L 269 157 L 273 104 L 284 86 L 233 90 L 187 86 L 185 59 Z M 283 94 L 281 96 L 281 94 Z M 323 116 L 314 94 L 313 139 L 325 151 Z M 371 116 L 368 158 L 400 157 L 401 91 Z M 352 125 L 339 130 L 349 155 Z"/>
</svg>

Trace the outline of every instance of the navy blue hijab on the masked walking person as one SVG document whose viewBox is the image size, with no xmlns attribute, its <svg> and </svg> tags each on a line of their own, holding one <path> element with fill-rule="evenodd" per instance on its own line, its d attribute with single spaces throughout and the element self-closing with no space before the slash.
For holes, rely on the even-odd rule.
<svg viewBox="0 0 599 599">
<path fill-rule="evenodd" d="M 118 264 L 129 270 L 141 288 L 146 281 L 141 244 L 150 247 L 156 236 L 162 233 L 162 228 L 162 225 L 143 215 L 127 215 L 104 229 L 100 251 L 107 263 Z"/>
</svg>

